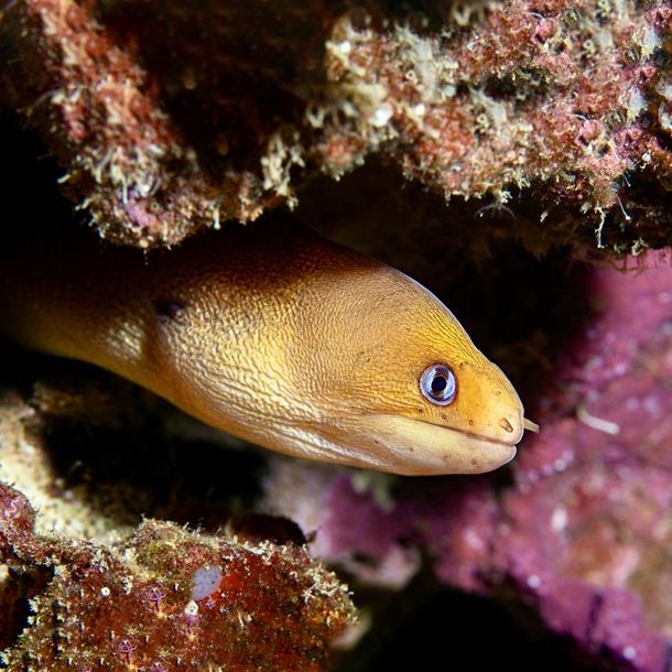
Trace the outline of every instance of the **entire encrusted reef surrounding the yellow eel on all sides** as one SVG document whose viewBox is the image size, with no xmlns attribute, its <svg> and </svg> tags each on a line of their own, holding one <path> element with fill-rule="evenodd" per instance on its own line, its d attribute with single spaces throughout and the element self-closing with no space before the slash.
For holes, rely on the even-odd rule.
<svg viewBox="0 0 672 672">
<path fill-rule="evenodd" d="M 0 668 L 672 669 L 672 3 L 0 17 L 7 234 L 297 206 L 440 294 L 542 425 L 491 475 L 336 469 L 2 344 Z"/>
</svg>

